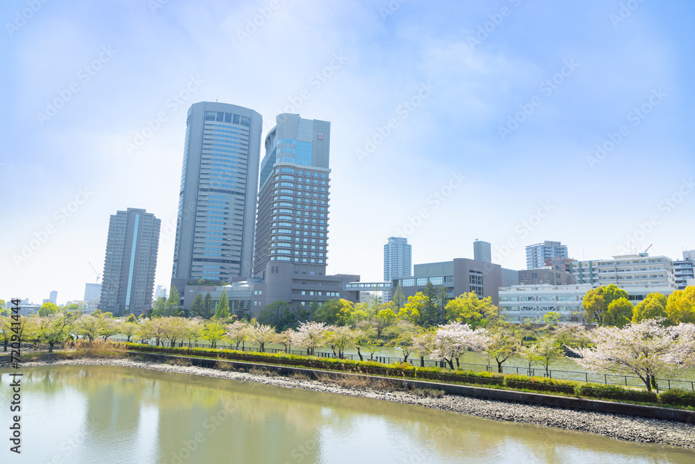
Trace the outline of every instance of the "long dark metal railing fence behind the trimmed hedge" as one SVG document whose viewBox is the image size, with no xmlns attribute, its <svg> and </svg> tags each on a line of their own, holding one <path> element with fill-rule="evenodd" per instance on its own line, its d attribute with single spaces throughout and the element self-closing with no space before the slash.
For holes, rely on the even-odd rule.
<svg viewBox="0 0 695 464">
<path fill-rule="evenodd" d="M 153 344 L 152 342 L 147 342 L 148 344 Z M 162 346 L 165 346 L 162 343 Z M 208 344 L 199 343 L 177 343 L 177 346 L 186 346 L 190 348 L 210 348 Z M 220 344 L 216 346 L 217 349 L 225 350 L 238 350 L 238 351 L 260 351 L 254 346 L 239 346 L 238 348 L 234 345 L 223 345 Z M 306 350 L 284 350 L 281 348 L 266 348 L 263 350 L 264 353 L 288 353 L 293 355 L 306 356 Z M 314 351 L 314 356 L 317 358 L 338 358 L 336 353 L 330 351 Z M 391 356 L 373 356 L 370 357 L 368 354 L 363 354 L 362 358 L 367 361 L 382 362 L 384 364 L 393 364 L 394 362 L 402 363 L 408 362 L 413 366 L 420 366 L 420 358 L 409 357 L 407 361 L 404 358 L 393 358 Z M 359 360 L 359 355 L 356 354 L 345 354 L 343 359 L 349 360 Z M 447 364 L 443 361 L 425 359 L 425 367 L 447 367 Z M 472 364 L 470 362 L 461 362 L 458 365 L 461 369 L 467 369 L 469 371 L 487 371 L 487 372 L 497 372 L 497 366 L 484 365 L 484 364 Z M 632 376 L 620 376 L 617 374 L 593 374 L 591 372 L 579 372 L 579 371 L 559 371 L 555 369 L 538 369 L 528 367 L 515 367 L 515 366 L 502 366 L 502 374 L 517 374 L 523 376 L 532 377 L 548 377 L 556 378 L 563 381 L 575 381 L 575 382 L 590 382 L 590 383 L 604 383 L 605 385 L 622 385 L 624 387 L 639 387 L 646 388 L 644 382 L 639 377 Z M 695 392 L 695 381 L 682 381 L 675 380 L 672 378 L 657 378 L 657 385 L 660 390 L 691 390 Z"/>
</svg>

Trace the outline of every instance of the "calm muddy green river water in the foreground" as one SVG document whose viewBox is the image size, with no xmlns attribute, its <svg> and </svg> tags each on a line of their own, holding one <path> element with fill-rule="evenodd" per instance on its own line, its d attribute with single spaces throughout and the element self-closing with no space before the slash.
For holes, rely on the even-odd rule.
<svg viewBox="0 0 695 464">
<path fill-rule="evenodd" d="M 695 463 L 695 453 L 421 406 L 104 366 L 23 369 L 0 463 Z"/>
</svg>

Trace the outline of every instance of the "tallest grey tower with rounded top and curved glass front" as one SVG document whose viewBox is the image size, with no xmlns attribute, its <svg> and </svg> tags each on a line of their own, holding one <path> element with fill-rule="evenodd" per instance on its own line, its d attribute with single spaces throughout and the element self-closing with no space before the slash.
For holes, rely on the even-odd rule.
<svg viewBox="0 0 695 464">
<path fill-rule="evenodd" d="M 172 287 L 251 276 L 261 115 L 226 103 L 190 106 L 183 143 Z"/>
</svg>

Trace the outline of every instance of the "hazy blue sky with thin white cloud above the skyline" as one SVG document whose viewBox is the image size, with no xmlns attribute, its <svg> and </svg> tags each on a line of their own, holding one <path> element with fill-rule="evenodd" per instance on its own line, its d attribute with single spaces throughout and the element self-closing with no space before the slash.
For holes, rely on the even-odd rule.
<svg viewBox="0 0 695 464">
<path fill-rule="evenodd" d="M 216 99 L 264 138 L 332 123 L 330 273 L 381 280 L 398 235 L 513 269 L 695 248 L 692 1 L 43 1 L 0 4 L 0 298 L 83 298 L 128 207 L 169 287 L 186 111 Z"/>
</svg>

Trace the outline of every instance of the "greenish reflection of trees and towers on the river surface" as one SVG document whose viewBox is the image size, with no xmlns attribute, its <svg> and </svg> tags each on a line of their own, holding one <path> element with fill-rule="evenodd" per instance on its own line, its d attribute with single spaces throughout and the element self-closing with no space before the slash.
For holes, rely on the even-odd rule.
<svg viewBox="0 0 695 464">
<path fill-rule="evenodd" d="M 645 451 L 598 435 L 221 378 L 106 366 L 25 370 L 28 391 L 57 397 L 66 386 L 89 398 L 90 430 L 118 440 L 135 440 L 139 431 L 169 461 L 185 440 L 201 434 L 204 444 L 191 462 L 316 462 L 323 440 L 349 440 L 370 430 L 398 443 L 413 462 L 464 456 L 520 463 L 585 456 L 584 462 L 597 462 L 613 453 L 644 457 Z M 143 406 L 158 411 L 158 430 L 138 429 Z"/>
</svg>

